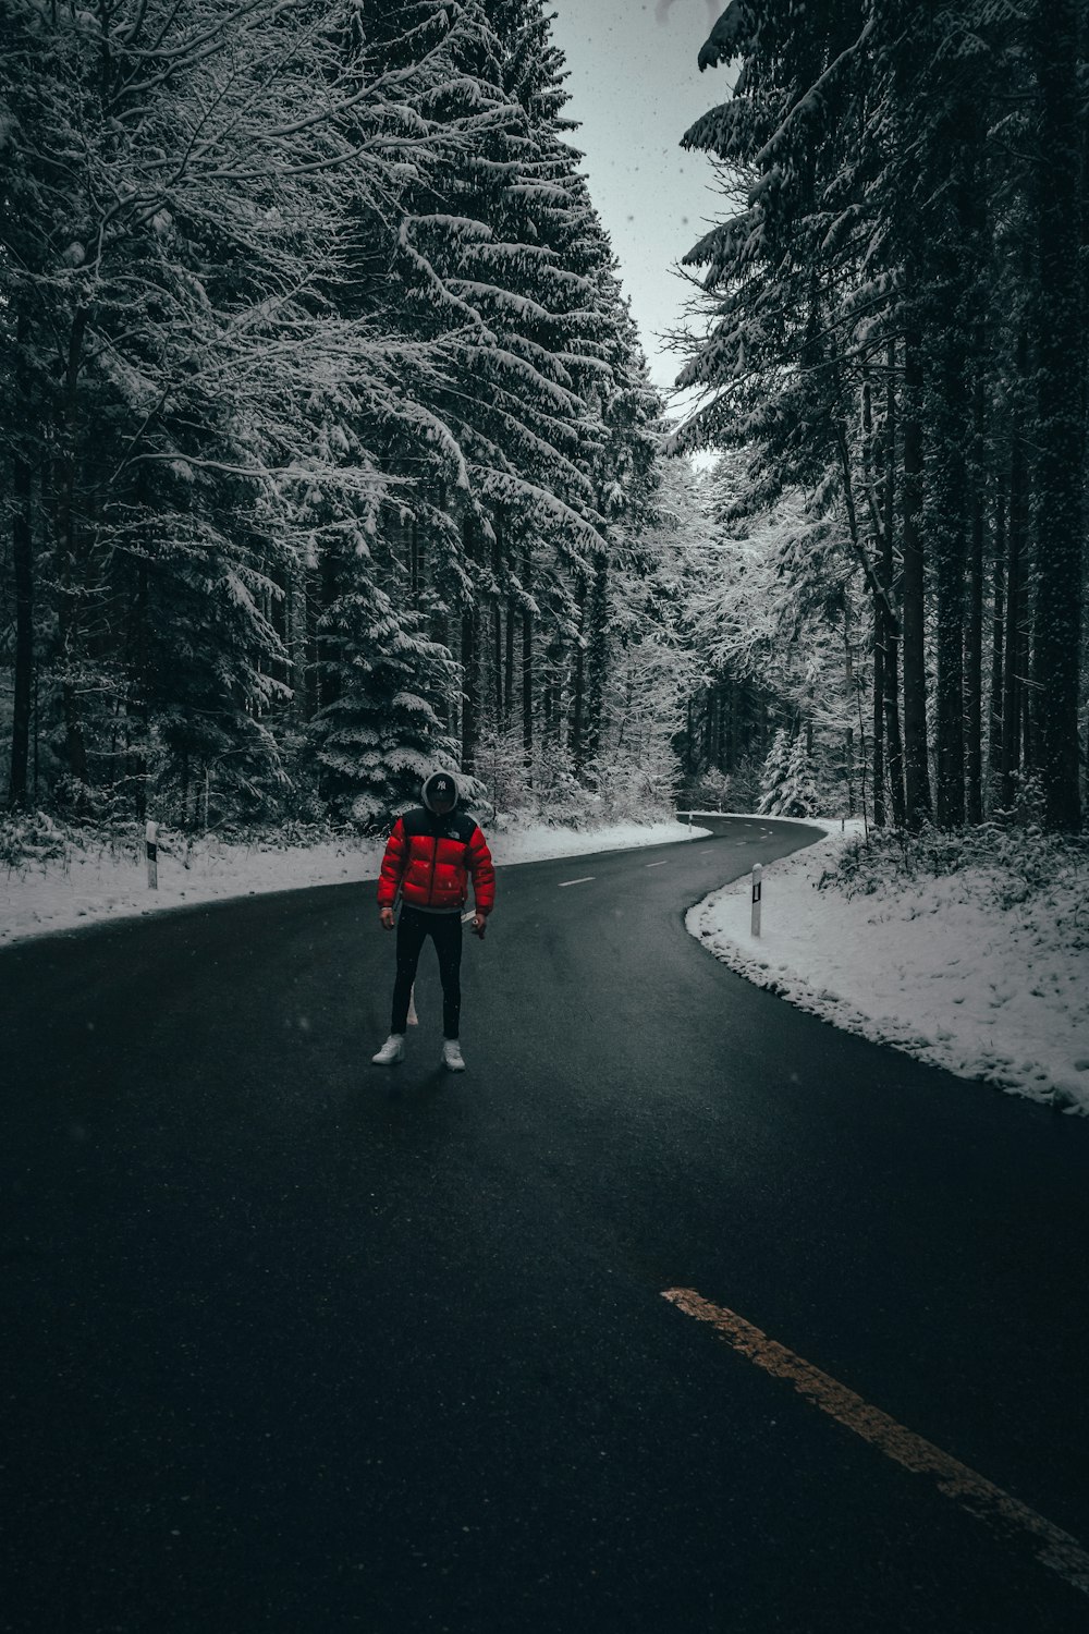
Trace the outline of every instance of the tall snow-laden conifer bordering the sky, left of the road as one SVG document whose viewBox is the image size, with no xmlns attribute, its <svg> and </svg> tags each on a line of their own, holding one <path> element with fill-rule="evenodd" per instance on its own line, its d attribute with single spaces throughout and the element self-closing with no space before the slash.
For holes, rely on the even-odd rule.
<svg viewBox="0 0 1089 1634">
<path fill-rule="evenodd" d="M 532 757 L 542 686 L 562 694 L 585 758 L 599 680 L 586 673 L 583 621 L 594 582 L 602 605 L 606 549 L 594 461 L 633 366 L 607 240 L 562 141 L 562 62 L 544 8 L 487 0 L 478 15 L 491 46 L 477 78 L 436 108 L 457 118 L 472 83 L 491 111 L 488 141 L 444 188 L 421 190 L 403 229 L 405 281 L 423 307 L 413 320 L 442 337 L 449 359 L 436 407 L 465 461 L 446 489 L 459 539 L 431 578 L 459 637 L 465 766 L 477 732 L 506 730 L 516 712 Z M 549 650 L 558 691 L 537 673 Z"/>
</svg>

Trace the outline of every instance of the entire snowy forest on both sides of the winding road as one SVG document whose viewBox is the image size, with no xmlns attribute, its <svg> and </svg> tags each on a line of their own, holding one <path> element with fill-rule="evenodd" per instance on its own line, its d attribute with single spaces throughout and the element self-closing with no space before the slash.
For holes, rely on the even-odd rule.
<svg viewBox="0 0 1089 1634">
<path fill-rule="evenodd" d="M 544 0 L 0 0 L 10 807 L 1076 830 L 1084 13 L 694 34 L 678 423 Z"/>
</svg>

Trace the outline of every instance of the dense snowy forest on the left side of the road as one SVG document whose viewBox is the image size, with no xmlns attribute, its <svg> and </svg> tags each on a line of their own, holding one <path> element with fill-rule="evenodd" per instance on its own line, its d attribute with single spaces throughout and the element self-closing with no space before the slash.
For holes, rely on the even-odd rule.
<svg viewBox="0 0 1089 1634">
<path fill-rule="evenodd" d="M 11 802 L 668 797 L 661 407 L 539 0 L 11 0 L 2 60 Z"/>
</svg>

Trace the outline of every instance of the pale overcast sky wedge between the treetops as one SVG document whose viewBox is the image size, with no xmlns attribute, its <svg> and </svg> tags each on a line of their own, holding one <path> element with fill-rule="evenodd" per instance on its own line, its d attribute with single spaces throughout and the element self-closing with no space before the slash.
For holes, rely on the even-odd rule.
<svg viewBox="0 0 1089 1634">
<path fill-rule="evenodd" d="M 699 47 L 725 0 L 552 0 L 553 39 L 567 56 L 570 141 L 620 263 L 656 386 L 679 359 L 658 335 L 681 322 L 686 284 L 669 271 L 715 216 L 712 167 L 681 137 L 725 101 L 722 69 L 700 74 Z"/>
</svg>

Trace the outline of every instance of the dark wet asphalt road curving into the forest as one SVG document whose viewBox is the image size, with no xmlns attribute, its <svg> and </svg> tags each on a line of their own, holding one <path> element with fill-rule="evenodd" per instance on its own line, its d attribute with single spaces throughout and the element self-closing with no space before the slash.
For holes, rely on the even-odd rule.
<svg viewBox="0 0 1089 1634">
<path fill-rule="evenodd" d="M 715 830 L 501 869 L 457 1077 L 371 886 L 0 953 L 0 1629 L 1089 1629 L 1089 1126 L 733 977 Z"/>
</svg>

